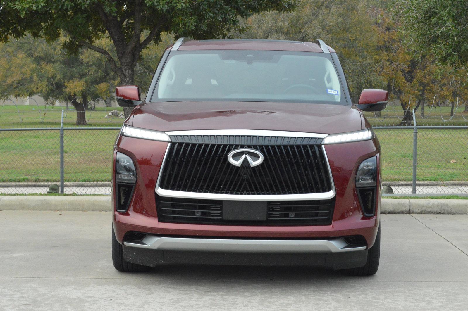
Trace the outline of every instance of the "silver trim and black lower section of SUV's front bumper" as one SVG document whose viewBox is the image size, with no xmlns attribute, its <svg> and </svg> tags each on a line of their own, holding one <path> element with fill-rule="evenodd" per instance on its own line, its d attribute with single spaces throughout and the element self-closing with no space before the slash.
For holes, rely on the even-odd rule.
<svg viewBox="0 0 468 311">
<path fill-rule="evenodd" d="M 217 239 L 147 235 L 124 241 L 128 262 L 155 267 L 169 264 L 312 266 L 346 269 L 366 264 L 366 246 L 332 239 Z"/>
</svg>

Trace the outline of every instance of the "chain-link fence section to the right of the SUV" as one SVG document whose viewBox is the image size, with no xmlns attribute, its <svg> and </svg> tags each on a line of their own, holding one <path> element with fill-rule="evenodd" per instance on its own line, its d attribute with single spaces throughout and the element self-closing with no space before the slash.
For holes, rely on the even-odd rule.
<svg viewBox="0 0 468 311">
<path fill-rule="evenodd" d="M 468 126 L 416 127 L 416 158 L 414 127 L 373 129 L 380 141 L 382 183 L 394 194 L 468 194 Z"/>
</svg>

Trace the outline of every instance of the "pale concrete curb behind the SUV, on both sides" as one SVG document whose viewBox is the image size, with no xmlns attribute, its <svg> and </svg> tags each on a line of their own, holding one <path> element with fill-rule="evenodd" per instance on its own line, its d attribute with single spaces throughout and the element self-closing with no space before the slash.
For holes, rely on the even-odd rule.
<svg viewBox="0 0 468 311">
<path fill-rule="evenodd" d="M 0 210 L 110 211 L 110 196 L 0 195 Z M 468 214 L 468 200 L 382 199 L 382 214 Z"/>
</svg>

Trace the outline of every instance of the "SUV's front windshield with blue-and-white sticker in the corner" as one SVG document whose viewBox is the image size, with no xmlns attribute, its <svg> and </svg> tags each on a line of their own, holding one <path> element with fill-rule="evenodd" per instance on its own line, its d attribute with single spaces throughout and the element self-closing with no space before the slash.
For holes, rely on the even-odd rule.
<svg viewBox="0 0 468 311">
<path fill-rule="evenodd" d="M 328 53 L 171 51 L 151 101 L 276 101 L 346 105 Z"/>
</svg>

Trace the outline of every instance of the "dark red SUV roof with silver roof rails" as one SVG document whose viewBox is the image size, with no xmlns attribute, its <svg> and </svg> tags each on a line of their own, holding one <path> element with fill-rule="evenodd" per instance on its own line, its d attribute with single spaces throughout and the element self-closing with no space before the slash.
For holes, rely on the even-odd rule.
<svg viewBox="0 0 468 311">
<path fill-rule="evenodd" d="M 180 38 L 173 45 L 170 45 L 168 50 L 268 50 L 335 53 L 335 50 L 322 40 L 300 42 L 264 39 L 190 40 Z"/>
</svg>

